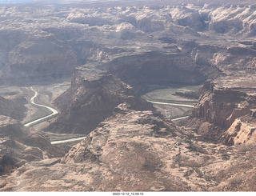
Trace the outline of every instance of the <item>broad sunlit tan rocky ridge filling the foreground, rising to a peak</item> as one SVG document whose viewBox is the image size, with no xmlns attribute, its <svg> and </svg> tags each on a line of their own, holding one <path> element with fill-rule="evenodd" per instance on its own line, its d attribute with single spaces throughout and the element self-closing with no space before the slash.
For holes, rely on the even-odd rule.
<svg viewBox="0 0 256 196">
<path fill-rule="evenodd" d="M 28 162 L 1 191 L 255 190 L 255 145 L 200 142 L 150 110 L 122 103 L 114 115 L 58 158 Z"/>
</svg>

